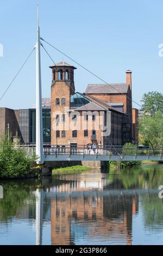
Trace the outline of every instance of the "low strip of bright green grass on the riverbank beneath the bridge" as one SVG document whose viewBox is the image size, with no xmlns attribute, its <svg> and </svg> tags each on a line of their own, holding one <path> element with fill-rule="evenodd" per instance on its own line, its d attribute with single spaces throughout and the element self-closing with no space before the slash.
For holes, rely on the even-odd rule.
<svg viewBox="0 0 163 256">
<path fill-rule="evenodd" d="M 90 170 L 89 166 L 68 166 L 68 167 L 60 167 L 57 169 L 53 169 L 53 175 L 67 175 L 67 174 L 77 174 L 82 173 L 86 170 Z"/>
</svg>

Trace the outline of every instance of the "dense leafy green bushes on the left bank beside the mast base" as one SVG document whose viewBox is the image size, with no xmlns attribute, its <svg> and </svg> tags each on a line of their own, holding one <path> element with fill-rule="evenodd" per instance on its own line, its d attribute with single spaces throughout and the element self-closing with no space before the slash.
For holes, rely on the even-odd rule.
<svg viewBox="0 0 163 256">
<path fill-rule="evenodd" d="M 36 160 L 33 151 L 27 154 L 7 136 L 0 137 L 0 179 L 26 177 L 32 172 Z"/>
</svg>

